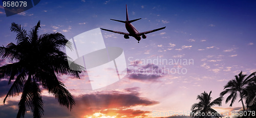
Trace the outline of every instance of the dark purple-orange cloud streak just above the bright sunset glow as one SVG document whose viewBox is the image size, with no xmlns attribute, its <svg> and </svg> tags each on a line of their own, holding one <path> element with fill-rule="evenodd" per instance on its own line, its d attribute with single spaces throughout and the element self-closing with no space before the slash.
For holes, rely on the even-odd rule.
<svg viewBox="0 0 256 118">
<path fill-rule="evenodd" d="M 138 92 L 99 91 L 80 96 L 78 104 L 86 108 L 106 109 L 132 106 L 150 106 L 158 104 L 157 101 L 139 97 Z"/>
</svg>

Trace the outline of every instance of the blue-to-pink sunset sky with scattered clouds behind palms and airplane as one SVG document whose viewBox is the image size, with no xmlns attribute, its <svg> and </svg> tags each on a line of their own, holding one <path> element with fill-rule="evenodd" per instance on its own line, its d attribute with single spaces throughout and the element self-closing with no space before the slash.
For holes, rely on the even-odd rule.
<svg viewBox="0 0 256 118">
<path fill-rule="evenodd" d="M 123 49 L 127 74 L 97 90 L 89 89 L 87 74 L 81 79 L 59 76 L 76 105 L 70 111 L 42 90 L 44 117 L 162 117 L 166 112 L 183 113 L 198 102 L 197 95 L 212 91 L 211 97 L 216 99 L 234 75 L 256 71 L 255 1 L 41 0 L 33 8 L 8 17 L 1 3 L 0 45 L 16 43 L 16 34 L 10 31 L 12 22 L 29 31 L 40 20 L 39 34 L 59 32 L 68 40 L 98 27 L 127 33 L 124 23 L 110 20 L 125 20 L 125 5 L 130 20 L 142 18 L 132 23 L 139 32 L 166 28 L 147 34 L 140 43 L 133 37 L 124 39 L 123 35 L 101 31 L 106 47 Z M 160 63 L 163 60 L 167 62 Z M 1 60 L 0 65 L 6 63 Z M 7 83 L 7 79 L 0 80 L 0 101 L 10 88 Z M 0 102 L 1 117 L 15 117 L 18 100 L 11 97 L 6 104 Z M 213 108 L 220 113 L 242 108 L 238 101 L 232 107 L 229 104 L 223 101 L 222 106 Z M 31 116 L 31 111 L 25 115 Z"/>
</svg>

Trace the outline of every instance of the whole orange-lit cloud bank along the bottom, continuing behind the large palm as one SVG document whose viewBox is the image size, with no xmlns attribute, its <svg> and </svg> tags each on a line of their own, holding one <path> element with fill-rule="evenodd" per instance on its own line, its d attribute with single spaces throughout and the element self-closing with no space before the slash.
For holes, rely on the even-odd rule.
<svg viewBox="0 0 256 118">
<path fill-rule="evenodd" d="M 150 100 L 140 97 L 139 87 L 125 88 L 119 91 L 98 91 L 90 94 L 84 94 L 74 97 L 76 105 L 72 111 L 68 108 L 60 106 L 54 97 L 42 96 L 44 100 L 44 117 L 89 117 L 95 113 L 100 115 L 113 116 L 118 114 L 118 117 L 127 115 L 129 117 L 146 116 L 143 111 L 139 109 L 132 109 L 134 106 L 151 106 L 158 104 L 158 101 Z M 8 101 L 8 104 L 0 105 L 1 117 L 16 117 L 18 101 Z M 27 111 L 25 117 L 33 117 L 31 110 Z M 97 117 L 97 116 L 94 116 Z"/>
</svg>

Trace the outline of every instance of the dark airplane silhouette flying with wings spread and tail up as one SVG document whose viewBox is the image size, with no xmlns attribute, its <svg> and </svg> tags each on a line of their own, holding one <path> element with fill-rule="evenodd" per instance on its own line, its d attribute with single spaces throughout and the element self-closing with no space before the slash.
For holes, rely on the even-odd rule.
<svg viewBox="0 0 256 118">
<path fill-rule="evenodd" d="M 126 30 L 129 32 L 129 33 L 123 33 L 123 32 L 118 32 L 118 31 L 112 31 L 112 30 L 106 30 L 104 28 L 100 28 L 101 30 L 104 30 L 104 31 L 109 31 L 109 32 L 112 32 L 112 33 L 118 33 L 118 34 L 122 34 L 124 35 L 124 39 L 129 39 L 129 36 L 132 36 L 134 37 L 138 43 L 140 43 L 140 39 L 141 39 L 141 36 L 143 39 L 146 39 L 146 34 L 148 33 L 153 33 L 153 32 L 156 32 L 156 31 L 160 31 L 160 30 L 163 30 L 166 26 L 164 27 L 161 27 L 161 28 L 157 28 L 155 30 L 151 30 L 151 31 L 146 31 L 146 32 L 142 32 L 142 33 L 139 33 L 136 28 L 133 26 L 132 22 L 134 21 L 137 21 L 141 18 L 138 18 L 138 19 L 135 19 L 135 20 L 129 20 L 129 17 L 128 17 L 128 11 L 127 11 L 127 5 L 126 5 L 126 20 L 125 21 L 121 21 L 121 20 L 115 20 L 115 19 L 111 19 L 111 20 L 114 20 L 114 21 L 118 21 L 118 22 L 122 22 L 122 23 L 125 23 L 125 28 Z"/>
</svg>

